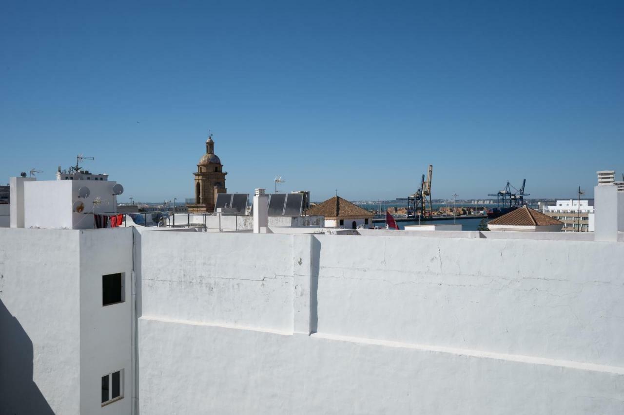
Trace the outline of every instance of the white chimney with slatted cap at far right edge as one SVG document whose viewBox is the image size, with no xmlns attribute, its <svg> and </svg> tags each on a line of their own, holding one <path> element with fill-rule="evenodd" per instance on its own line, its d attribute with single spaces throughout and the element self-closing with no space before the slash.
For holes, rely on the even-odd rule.
<svg viewBox="0 0 624 415">
<path fill-rule="evenodd" d="M 618 229 L 624 226 L 624 193 L 618 194 L 613 183 L 615 171 L 597 171 L 598 186 L 593 188 L 595 204 L 594 241 L 617 241 Z M 619 206 L 618 206 L 619 205 Z M 623 212 L 620 212 L 623 211 Z"/>
</svg>

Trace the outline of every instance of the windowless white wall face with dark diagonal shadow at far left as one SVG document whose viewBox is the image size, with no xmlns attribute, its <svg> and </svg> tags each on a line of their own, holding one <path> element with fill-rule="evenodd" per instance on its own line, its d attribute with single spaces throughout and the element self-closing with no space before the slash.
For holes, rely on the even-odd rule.
<svg viewBox="0 0 624 415">
<path fill-rule="evenodd" d="M 0 229 L 0 413 L 80 414 L 77 231 Z"/>
</svg>

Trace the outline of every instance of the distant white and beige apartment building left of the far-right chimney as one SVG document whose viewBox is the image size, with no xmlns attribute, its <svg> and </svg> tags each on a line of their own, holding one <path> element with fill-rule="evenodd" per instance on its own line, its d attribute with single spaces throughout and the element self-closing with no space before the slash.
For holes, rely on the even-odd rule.
<svg viewBox="0 0 624 415">
<path fill-rule="evenodd" d="M 542 213 L 563 222 L 563 232 L 578 232 L 579 227 L 580 232 L 594 230 L 593 200 L 558 200 L 554 206 L 539 204 Z"/>
</svg>

